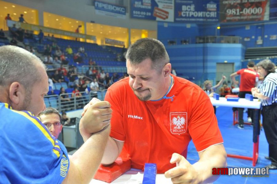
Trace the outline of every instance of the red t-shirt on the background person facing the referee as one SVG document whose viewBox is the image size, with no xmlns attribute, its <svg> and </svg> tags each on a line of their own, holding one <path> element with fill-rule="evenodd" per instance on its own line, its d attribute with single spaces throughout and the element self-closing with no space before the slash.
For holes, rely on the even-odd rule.
<svg viewBox="0 0 277 184">
<path fill-rule="evenodd" d="M 259 80 L 259 74 L 252 69 L 243 68 L 236 73 L 240 75 L 240 91 L 251 91 L 251 88 L 255 87 L 256 79 Z"/>
</svg>

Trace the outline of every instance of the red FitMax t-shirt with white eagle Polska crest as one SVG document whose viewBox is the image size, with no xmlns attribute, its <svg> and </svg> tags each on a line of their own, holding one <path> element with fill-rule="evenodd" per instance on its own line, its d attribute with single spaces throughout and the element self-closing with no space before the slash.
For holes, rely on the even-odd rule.
<svg viewBox="0 0 277 184">
<path fill-rule="evenodd" d="M 213 105 L 196 84 L 172 75 L 174 86 L 160 101 L 140 101 L 128 84 L 129 77 L 108 88 L 105 100 L 111 103 L 111 134 L 124 141 L 123 149 L 131 167 L 142 169 L 156 163 L 158 173 L 176 166 L 170 164 L 174 152 L 187 156 L 192 139 L 197 151 L 223 143 Z"/>
</svg>

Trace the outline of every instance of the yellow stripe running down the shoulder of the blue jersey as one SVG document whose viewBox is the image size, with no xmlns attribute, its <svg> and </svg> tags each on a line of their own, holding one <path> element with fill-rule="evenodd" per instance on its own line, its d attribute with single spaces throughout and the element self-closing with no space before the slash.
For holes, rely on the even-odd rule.
<svg viewBox="0 0 277 184">
<path fill-rule="evenodd" d="M 5 106 L 6 106 L 6 104 L 5 104 Z M 43 135 L 51 142 L 53 147 L 58 148 L 60 150 L 60 146 L 55 145 L 55 142 L 54 142 L 54 139 L 52 138 L 52 136 L 45 130 L 45 128 L 35 118 L 30 117 L 30 115 L 28 113 L 25 113 L 23 111 L 16 111 L 16 110 L 13 110 L 13 109 L 11 109 L 11 110 L 15 113 L 21 114 L 22 116 L 26 117 L 28 120 L 32 121 L 32 123 L 34 125 L 36 125 L 37 128 L 40 129 L 40 131 L 43 133 Z M 60 157 L 60 151 L 58 151 L 54 148 L 53 148 L 53 152 L 57 155 L 57 158 L 59 158 Z"/>
</svg>

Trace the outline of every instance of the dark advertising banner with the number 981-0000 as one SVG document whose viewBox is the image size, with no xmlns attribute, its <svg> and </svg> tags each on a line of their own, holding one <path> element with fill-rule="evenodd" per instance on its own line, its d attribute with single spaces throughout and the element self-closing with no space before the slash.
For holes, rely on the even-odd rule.
<svg viewBox="0 0 277 184">
<path fill-rule="evenodd" d="M 221 0 L 220 22 L 268 21 L 269 0 Z"/>
</svg>

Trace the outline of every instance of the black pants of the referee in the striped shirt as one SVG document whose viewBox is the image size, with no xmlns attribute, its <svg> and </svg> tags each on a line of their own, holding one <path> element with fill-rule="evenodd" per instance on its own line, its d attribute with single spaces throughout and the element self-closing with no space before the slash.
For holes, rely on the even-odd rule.
<svg viewBox="0 0 277 184">
<path fill-rule="evenodd" d="M 262 115 L 271 164 L 277 166 L 277 104 L 263 106 Z"/>
</svg>

